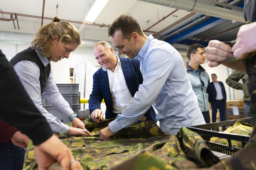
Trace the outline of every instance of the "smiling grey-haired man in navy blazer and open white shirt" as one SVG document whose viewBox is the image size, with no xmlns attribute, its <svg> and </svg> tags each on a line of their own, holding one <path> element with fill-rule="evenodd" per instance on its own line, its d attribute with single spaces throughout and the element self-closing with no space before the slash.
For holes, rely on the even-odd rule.
<svg viewBox="0 0 256 170">
<path fill-rule="evenodd" d="M 137 58 L 119 58 L 108 42 L 101 41 L 94 46 L 94 56 L 102 66 L 93 75 L 93 91 L 89 98 L 89 110 L 94 122 L 102 120 L 101 101 L 106 105 L 105 118 L 117 117 L 126 108 L 143 82 L 140 61 Z M 151 106 L 140 121 L 155 120 L 156 113 Z"/>
</svg>

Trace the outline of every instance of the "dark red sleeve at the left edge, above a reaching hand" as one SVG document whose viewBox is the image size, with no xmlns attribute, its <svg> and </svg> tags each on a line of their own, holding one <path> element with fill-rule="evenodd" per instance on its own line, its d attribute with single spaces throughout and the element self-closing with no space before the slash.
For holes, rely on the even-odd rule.
<svg viewBox="0 0 256 170">
<path fill-rule="evenodd" d="M 19 131 L 0 119 L 0 141 L 10 143 L 10 139 L 15 132 Z"/>
</svg>

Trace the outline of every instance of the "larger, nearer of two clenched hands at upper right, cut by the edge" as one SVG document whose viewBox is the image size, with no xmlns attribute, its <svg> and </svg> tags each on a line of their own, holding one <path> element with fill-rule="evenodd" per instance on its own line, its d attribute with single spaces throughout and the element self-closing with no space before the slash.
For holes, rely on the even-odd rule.
<svg viewBox="0 0 256 170">
<path fill-rule="evenodd" d="M 249 53 L 256 51 L 256 22 L 242 25 L 237 33 L 236 43 L 232 48 L 233 55 L 244 58 Z"/>
</svg>

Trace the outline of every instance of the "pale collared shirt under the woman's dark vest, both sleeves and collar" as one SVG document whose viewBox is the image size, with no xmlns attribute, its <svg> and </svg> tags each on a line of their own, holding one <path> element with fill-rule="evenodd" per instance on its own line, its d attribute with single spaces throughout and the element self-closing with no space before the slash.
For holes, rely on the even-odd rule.
<svg viewBox="0 0 256 170">
<path fill-rule="evenodd" d="M 46 66 L 50 63 L 46 57 L 44 57 L 39 50 L 35 50 L 43 65 Z M 39 109 L 42 115 L 46 118 L 52 131 L 59 133 L 66 133 L 69 127 L 59 121 L 51 113 L 48 113 L 42 106 L 41 88 L 40 88 L 40 70 L 39 67 L 31 61 L 20 61 L 14 65 L 14 70 L 19 76 L 21 83 L 23 84 L 28 95 L 34 102 L 35 106 Z M 70 108 L 69 104 L 59 92 L 56 83 L 52 75 L 52 66 L 50 75 L 46 82 L 46 87 L 43 92 L 43 96 L 55 107 L 60 113 L 63 113 L 66 117 L 69 117 L 74 111 Z"/>
</svg>

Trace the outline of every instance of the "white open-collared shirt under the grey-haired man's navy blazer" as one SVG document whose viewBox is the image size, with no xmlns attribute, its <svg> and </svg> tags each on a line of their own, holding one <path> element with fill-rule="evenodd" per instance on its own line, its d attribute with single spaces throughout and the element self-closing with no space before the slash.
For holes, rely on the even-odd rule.
<svg viewBox="0 0 256 170">
<path fill-rule="evenodd" d="M 113 101 L 113 113 L 122 113 L 131 101 L 132 96 L 126 85 L 120 59 L 118 56 L 116 57 L 117 65 L 114 73 L 104 67 L 102 67 L 102 70 L 108 73 L 110 94 Z"/>
</svg>

